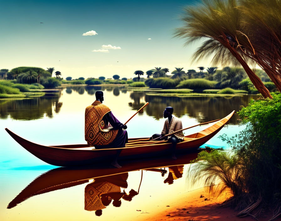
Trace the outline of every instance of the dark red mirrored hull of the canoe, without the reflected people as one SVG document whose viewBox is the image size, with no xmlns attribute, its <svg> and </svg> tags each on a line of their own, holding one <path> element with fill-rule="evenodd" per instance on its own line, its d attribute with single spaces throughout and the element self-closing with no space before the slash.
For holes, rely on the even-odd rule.
<svg viewBox="0 0 281 221">
<path fill-rule="evenodd" d="M 157 159 L 138 159 L 126 161 L 122 168 L 100 168 L 100 167 L 59 167 L 47 171 L 36 177 L 28 186 L 26 186 L 18 196 L 16 196 L 8 205 L 8 209 L 15 207 L 26 199 L 43 193 L 56 191 L 72 186 L 77 186 L 89 182 L 90 179 L 110 178 L 112 175 L 128 173 L 135 170 L 152 170 L 153 168 L 166 168 L 176 165 L 189 164 L 191 160 L 196 159 L 197 155 L 204 148 L 197 149 L 189 154 L 181 154 L 178 159 L 173 160 L 167 157 Z M 161 177 L 161 176 L 160 176 Z M 159 178 L 160 178 L 159 177 Z"/>
</svg>

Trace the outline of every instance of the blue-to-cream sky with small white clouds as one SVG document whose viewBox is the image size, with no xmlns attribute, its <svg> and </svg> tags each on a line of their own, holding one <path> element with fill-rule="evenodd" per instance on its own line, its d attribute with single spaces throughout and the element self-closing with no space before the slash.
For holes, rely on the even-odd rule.
<svg viewBox="0 0 281 221">
<path fill-rule="evenodd" d="M 196 69 L 199 46 L 173 38 L 193 0 L 0 0 L 0 69 L 54 67 L 62 77 L 133 78 L 154 67 Z M 42 22 L 42 23 L 41 23 Z"/>
</svg>

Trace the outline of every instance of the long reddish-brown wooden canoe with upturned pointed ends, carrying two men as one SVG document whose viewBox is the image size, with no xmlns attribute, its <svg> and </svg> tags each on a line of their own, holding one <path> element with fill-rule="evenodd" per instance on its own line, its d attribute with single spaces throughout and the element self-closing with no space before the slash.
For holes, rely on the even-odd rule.
<svg viewBox="0 0 281 221">
<path fill-rule="evenodd" d="M 206 143 L 224 127 L 234 112 L 198 133 L 185 136 L 184 141 L 177 144 L 177 151 L 192 150 Z M 130 138 L 124 148 L 111 149 L 93 149 L 87 144 L 43 146 L 19 137 L 7 128 L 5 130 L 31 154 L 55 166 L 81 166 L 108 162 L 114 158 L 119 149 L 122 149 L 119 160 L 155 157 L 170 154 L 172 147 L 172 144 L 166 141 L 149 141 L 149 138 Z"/>
</svg>

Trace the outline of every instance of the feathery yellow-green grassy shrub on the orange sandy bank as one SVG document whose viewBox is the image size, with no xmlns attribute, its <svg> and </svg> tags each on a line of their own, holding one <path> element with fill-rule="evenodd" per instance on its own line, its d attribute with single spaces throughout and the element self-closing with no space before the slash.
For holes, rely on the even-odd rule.
<svg viewBox="0 0 281 221">
<path fill-rule="evenodd" d="M 188 178 L 192 184 L 204 180 L 204 186 L 214 194 L 221 194 L 229 188 L 236 197 L 244 191 L 241 182 L 241 160 L 236 155 L 225 151 L 213 150 L 210 153 L 202 151 L 197 159 L 191 163 L 197 163 L 188 170 Z M 220 186 L 215 186 L 220 181 Z M 217 187 L 217 188 L 216 188 Z"/>
</svg>

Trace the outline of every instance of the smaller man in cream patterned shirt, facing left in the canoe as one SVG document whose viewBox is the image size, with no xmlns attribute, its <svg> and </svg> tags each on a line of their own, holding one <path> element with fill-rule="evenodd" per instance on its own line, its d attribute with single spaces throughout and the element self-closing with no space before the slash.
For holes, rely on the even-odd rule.
<svg viewBox="0 0 281 221">
<path fill-rule="evenodd" d="M 168 119 L 164 123 L 163 130 L 161 134 L 153 134 L 151 139 L 159 137 L 158 140 L 161 140 L 164 135 L 183 129 L 182 121 L 172 115 L 173 111 L 174 109 L 172 107 L 166 107 L 163 112 L 163 117 Z M 183 141 L 183 136 L 183 132 L 180 131 L 172 134 L 171 136 L 165 137 L 169 143 L 172 143 L 172 159 L 177 159 L 175 155 L 176 145 L 177 143 Z"/>
</svg>

